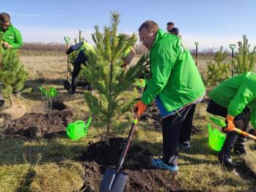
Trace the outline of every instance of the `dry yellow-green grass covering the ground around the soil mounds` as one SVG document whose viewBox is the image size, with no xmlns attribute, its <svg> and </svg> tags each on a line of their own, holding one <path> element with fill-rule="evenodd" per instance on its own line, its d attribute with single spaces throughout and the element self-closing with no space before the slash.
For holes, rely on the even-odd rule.
<svg viewBox="0 0 256 192">
<path fill-rule="evenodd" d="M 47 85 L 57 88 L 59 99 L 72 107 L 77 118 L 80 118 L 81 112 L 88 112 L 83 90 L 78 90 L 75 96 L 63 90 L 66 55 L 23 51 L 20 59 L 29 71 L 29 86 L 34 88 L 34 93 L 14 98 L 15 104 L 25 106 L 26 112 L 42 112 L 37 87 Z M 198 59 L 200 72 L 206 71 L 206 61 L 210 59 Z M 3 118 L 0 122 L 1 128 L 4 128 Z M 217 153 L 208 147 L 207 123 L 206 103 L 198 104 L 194 125 L 201 132 L 192 136 L 189 151 L 181 150 L 179 153 L 180 171 L 170 183 L 178 183 L 181 191 L 256 191 L 255 142 L 247 142 L 248 155 L 233 155 L 235 161 L 245 161 L 246 168 L 227 172 L 219 166 Z M 127 137 L 127 131 L 118 136 Z M 89 142 L 99 141 L 98 135 L 97 129 L 91 127 L 89 135 L 78 141 L 71 141 L 67 137 L 37 140 L 0 137 L 0 191 L 80 191 L 85 173 L 75 159 L 86 151 Z M 132 142 L 144 144 L 143 147 L 154 153 L 162 152 L 162 133 L 146 123 L 139 123 Z"/>
</svg>

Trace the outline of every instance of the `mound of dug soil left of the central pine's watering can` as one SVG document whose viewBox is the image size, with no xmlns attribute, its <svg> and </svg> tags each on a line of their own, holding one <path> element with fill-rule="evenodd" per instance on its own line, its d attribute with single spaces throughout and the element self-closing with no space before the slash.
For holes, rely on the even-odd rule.
<svg viewBox="0 0 256 192">
<path fill-rule="evenodd" d="M 59 105 L 56 105 L 59 107 Z M 72 120 L 70 110 L 49 110 L 48 113 L 29 113 L 22 118 L 7 123 L 4 134 L 21 135 L 31 139 L 53 137 L 54 133 L 64 131 Z"/>
</svg>

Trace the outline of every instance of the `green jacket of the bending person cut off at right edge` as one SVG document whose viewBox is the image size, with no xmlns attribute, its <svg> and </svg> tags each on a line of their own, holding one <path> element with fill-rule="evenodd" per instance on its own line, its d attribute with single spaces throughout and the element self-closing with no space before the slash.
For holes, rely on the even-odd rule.
<svg viewBox="0 0 256 192">
<path fill-rule="evenodd" d="M 222 107 L 227 114 L 236 117 L 244 108 L 249 107 L 251 123 L 256 128 L 256 74 L 246 72 L 231 77 L 219 84 L 209 93 L 209 97 Z"/>
</svg>

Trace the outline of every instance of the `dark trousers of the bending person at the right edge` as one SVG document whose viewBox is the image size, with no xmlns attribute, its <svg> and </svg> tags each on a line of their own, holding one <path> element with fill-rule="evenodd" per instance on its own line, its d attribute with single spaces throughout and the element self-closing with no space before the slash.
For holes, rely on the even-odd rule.
<svg viewBox="0 0 256 192">
<path fill-rule="evenodd" d="M 211 100 L 207 107 L 207 112 L 210 112 L 214 115 L 219 115 L 224 118 L 227 116 L 227 108 L 220 106 L 213 100 Z M 236 115 L 234 120 L 243 120 L 244 121 L 244 127 L 237 127 L 242 129 L 243 131 L 248 131 L 249 129 L 249 115 L 250 110 L 246 107 L 243 112 L 241 112 L 239 115 Z M 225 139 L 224 145 L 222 147 L 222 150 L 225 150 L 227 152 L 227 156 L 230 155 L 230 150 L 232 150 L 233 145 L 235 143 L 236 146 L 242 146 L 244 145 L 244 141 L 246 138 L 242 136 L 241 134 L 236 134 L 235 131 L 227 132 L 227 137 Z"/>
</svg>

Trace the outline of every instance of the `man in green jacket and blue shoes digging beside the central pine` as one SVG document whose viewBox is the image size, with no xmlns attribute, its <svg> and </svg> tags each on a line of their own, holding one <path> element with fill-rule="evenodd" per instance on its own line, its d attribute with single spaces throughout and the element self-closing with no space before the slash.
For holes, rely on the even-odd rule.
<svg viewBox="0 0 256 192">
<path fill-rule="evenodd" d="M 165 33 L 152 20 L 138 31 L 140 41 L 150 51 L 151 78 L 135 109 L 140 116 L 156 99 L 162 116 L 164 153 L 151 163 L 159 169 L 178 171 L 178 143 L 189 147 L 195 104 L 205 94 L 203 81 L 180 38 Z"/>
</svg>

